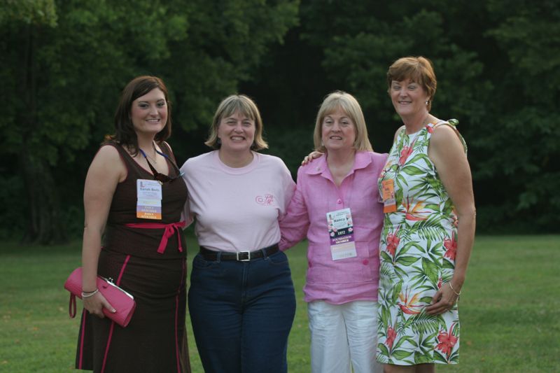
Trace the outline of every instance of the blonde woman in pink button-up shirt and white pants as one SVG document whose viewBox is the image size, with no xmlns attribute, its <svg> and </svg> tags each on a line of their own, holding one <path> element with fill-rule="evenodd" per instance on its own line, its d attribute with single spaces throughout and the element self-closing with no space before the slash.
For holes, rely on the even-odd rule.
<svg viewBox="0 0 560 373">
<path fill-rule="evenodd" d="M 360 105 L 345 92 L 323 101 L 314 143 L 324 154 L 297 171 L 280 223 L 281 249 L 309 240 L 304 293 L 311 371 L 381 372 L 375 363 L 383 225 L 377 178 L 386 154 L 373 152 Z"/>
</svg>

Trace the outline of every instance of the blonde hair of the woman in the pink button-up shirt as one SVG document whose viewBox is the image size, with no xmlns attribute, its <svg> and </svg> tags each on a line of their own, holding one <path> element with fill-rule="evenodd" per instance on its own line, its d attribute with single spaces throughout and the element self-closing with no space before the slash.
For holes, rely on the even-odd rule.
<svg viewBox="0 0 560 373">
<path fill-rule="evenodd" d="M 354 140 L 353 148 L 355 148 L 356 151 L 373 151 L 370 139 L 367 138 L 367 127 L 365 127 L 365 118 L 363 118 L 362 108 L 360 104 L 358 104 L 358 100 L 351 94 L 343 91 L 335 91 L 328 94 L 319 108 L 313 133 L 315 150 L 325 153 L 326 149 L 321 136 L 323 132 L 323 119 L 325 119 L 325 116 L 334 113 L 338 109 L 344 111 L 356 126 L 356 139 Z"/>
</svg>

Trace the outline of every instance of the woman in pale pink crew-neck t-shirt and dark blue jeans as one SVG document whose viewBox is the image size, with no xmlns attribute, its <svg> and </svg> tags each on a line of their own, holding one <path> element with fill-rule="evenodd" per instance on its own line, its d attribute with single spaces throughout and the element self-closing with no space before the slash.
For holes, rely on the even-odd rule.
<svg viewBox="0 0 560 373">
<path fill-rule="evenodd" d="M 262 155 L 262 120 L 244 95 L 222 101 L 208 146 L 181 167 L 196 220 L 188 307 L 205 372 L 287 372 L 295 315 L 278 219 L 295 190 L 286 165 Z"/>
</svg>

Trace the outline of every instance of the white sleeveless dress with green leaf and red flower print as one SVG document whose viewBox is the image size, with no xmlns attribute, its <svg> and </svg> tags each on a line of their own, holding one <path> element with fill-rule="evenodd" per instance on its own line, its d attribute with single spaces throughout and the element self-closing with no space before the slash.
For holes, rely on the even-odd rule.
<svg viewBox="0 0 560 373">
<path fill-rule="evenodd" d="M 425 311 L 453 276 L 457 248 L 454 206 L 428 158 L 428 144 L 436 126 L 457 123 L 429 123 L 409 135 L 403 127 L 379 176 L 381 195 L 382 181 L 394 180 L 397 205 L 385 214 L 379 244 L 379 363 L 458 363 L 457 306 L 437 316 Z"/>
</svg>

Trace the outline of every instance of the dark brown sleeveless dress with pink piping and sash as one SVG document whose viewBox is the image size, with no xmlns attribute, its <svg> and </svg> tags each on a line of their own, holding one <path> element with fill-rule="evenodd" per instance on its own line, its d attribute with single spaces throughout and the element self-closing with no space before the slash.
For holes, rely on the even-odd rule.
<svg viewBox="0 0 560 373">
<path fill-rule="evenodd" d="M 97 271 L 131 293 L 137 307 L 126 328 L 84 309 L 76 368 L 104 373 L 190 372 L 183 232 L 180 227 L 172 227 L 167 245 L 160 246 L 164 228 L 127 226 L 179 223 L 187 198 L 186 185 L 183 178 L 163 183 L 162 220 L 137 218 L 137 179 L 153 180 L 153 174 L 135 162 L 122 146 L 114 142 L 109 145 L 118 150 L 128 174 L 113 195 Z M 177 176 L 170 163 L 175 162 L 171 149 L 167 143 L 162 143 L 161 148 L 169 156 L 169 176 Z"/>
</svg>

